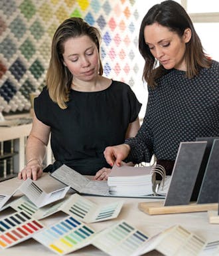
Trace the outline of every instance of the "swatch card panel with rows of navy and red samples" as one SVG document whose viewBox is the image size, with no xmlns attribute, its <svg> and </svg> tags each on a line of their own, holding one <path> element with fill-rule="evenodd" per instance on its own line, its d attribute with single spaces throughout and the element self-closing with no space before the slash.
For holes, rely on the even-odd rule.
<svg viewBox="0 0 219 256">
<path fill-rule="evenodd" d="M 13 213 L 0 219 L 0 247 L 6 249 L 21 243 L 43 229 L 42 223 L 33 219 L 24 211 Z"/>
</svg>

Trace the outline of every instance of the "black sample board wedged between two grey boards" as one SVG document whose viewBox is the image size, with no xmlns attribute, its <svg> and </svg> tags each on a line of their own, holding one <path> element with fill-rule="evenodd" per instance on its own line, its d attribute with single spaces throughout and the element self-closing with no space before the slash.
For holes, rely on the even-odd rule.
<svg viewBox="0 0 219 256">
<path fill-rule="evenodd" d="M 210 151 L 212 150 L 212 144 L 214 142 L 214 139 L 219 139 L 219 137 L 202 137 L 202 138 L 196 138 L 196 141 L 198 142 L 207 142 L 206 149 L 204 151 L 204 156 L 202 158 L 202 164 L 200 165 L 200 169 L 198 172 L 198 176 L 196 178 L 196 183 L 194 184 L 194 189 L 192 192 L 192 197 L 190 201 L 196 201 L 198 199 L 198 193 L 200 191 L 200 186 L 202 185 L 202 180 L 204 177 L 204 172 L 206 170 L 206 166 L 208 164 L 208 158 L 210 156 Z"/>
</svg>

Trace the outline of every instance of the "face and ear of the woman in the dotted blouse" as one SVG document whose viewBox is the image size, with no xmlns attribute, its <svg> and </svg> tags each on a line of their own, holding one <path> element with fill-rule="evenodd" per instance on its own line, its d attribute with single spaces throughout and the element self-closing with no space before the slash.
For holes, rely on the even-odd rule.
<svg viewBox="0 0 219 256">
<path fill-rule="evenodd" d="M 151 54 L 164 68 L 186 71 L 184 53 L 186 43 L 190 40 L 190 29 L 186 29 L 184 35 L 179 37 L 177 33 L 170 31 L 167 27 L 153 23 L 145 27 L 144 37 Z"/>
</svg>

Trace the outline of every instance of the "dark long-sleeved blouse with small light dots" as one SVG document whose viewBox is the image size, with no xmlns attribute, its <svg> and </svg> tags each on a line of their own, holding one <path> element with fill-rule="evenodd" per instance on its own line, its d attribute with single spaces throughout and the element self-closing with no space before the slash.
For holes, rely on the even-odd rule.
<svg viewBox="0 0 219 256">
<path fill-rule="evenodd" d="M 144 123 L 136 138 L 127 139 L 134 162 L 175 160 L 180 142 L 219 136 L 219 63 L 192 79 L 171 70 L 149 88 Z"/>
</svg>

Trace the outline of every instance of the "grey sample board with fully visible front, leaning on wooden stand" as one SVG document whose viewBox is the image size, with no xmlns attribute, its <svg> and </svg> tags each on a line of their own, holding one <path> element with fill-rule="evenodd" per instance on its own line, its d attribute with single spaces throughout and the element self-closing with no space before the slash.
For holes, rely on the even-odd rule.
<svg viewBox="0 0 219 256">
<path fill-rule="evenodd" d="M 181 142 L 164 205 L 187 205 L 207 142 Z"/>
</svg>

